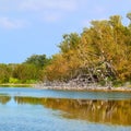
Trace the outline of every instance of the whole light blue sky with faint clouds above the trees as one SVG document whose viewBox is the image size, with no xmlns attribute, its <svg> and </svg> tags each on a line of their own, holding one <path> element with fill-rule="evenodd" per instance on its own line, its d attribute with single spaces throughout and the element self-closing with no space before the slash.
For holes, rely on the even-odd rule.
<svg viewBox="0 0 131 131">
<path fill-rule="evenodd" d="M 0 63 L 59 51 L 62 35 L 81 33 L 92 20 L 119 14 L 129 23 L 131 0 L 0 0 Z"/>
</svg>

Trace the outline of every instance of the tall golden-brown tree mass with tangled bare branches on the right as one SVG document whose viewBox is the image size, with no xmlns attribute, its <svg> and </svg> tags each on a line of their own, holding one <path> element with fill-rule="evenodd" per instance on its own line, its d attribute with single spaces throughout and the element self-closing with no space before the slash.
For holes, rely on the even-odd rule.
<svg viewBox="0 0 131 131">
<path fill-rule="evenodd" d="M 96 78 L 100 83 L 131 81 L 130 24 L 124 26 L 119 15 L 91 24 L 81 35 L 63 35 L 60 52 L 46 67 L 46 79 L 66 81 L 88 74 L 93 82 Z"/>
</svg>

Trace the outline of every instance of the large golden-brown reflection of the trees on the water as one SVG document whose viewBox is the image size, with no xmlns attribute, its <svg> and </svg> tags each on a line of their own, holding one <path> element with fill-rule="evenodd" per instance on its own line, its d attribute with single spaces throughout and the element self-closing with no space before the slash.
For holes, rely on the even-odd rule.
<svg viewBox="0 0 131 131">
<path fill-rule="evenodd" d="M 43 105 L 61 110 L 62 117 L 91 122 L 131 126 L 131 100 L 90 100 L 15 96 L 17 104 Z"/>
</svg>

